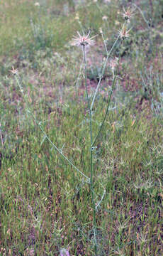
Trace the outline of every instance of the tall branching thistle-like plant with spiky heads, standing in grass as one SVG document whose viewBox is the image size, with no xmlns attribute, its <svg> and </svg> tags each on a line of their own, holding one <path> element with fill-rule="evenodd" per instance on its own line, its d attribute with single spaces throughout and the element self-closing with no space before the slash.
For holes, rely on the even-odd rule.
<svg viewBox="0 0 163 256">
<path fill-rule="evenodd" d="M 129 10 L 128 10 L 129 12 Z M 101 35 L 103 38 L 103 43 L 105 46 L 105 50 L 106 50 L 106 60 L 104 61 L 104 63 L 102 64 L 101 67 L 101 74 L 99 75 L 99 82 L 96 85 L 96 90 L 94 92 L 93 97 L 89 97 L 89 91 L 88 91 L 88 85 L 87 85 L 87 62 L 86 62 L 86 48 L 88 46 L 93 46 L 95 44 L 94 38 L 96 36 L 92 36 L 90 37 L 90 31 L 89 33 L 87 33 L 86 35 L 83 34 L 83 36 L 81 36 L 81 34 L 79 32 L 77 32 L 78 36 L 75 36 L 73 38 L 72 41 L 72 45 L 73 46 L 79 46 L 82 49 L 82 53 L 83 53 L 83 63 L 84 63 L 84 85 L 85 85 L 85 90 L 86 90 L 86 100 L 87 100 L 87 106 L 88 106 L 88 110 L 89 110 L 89 175 L 87 176 L 85 174 L 85 171 L 80 171 L 79 168 L 77 166 L 75 166 L 72 161 L 70 161 L 67 156 L 65 156 L 62 152 L 62 150 L 58 149 L 58 147 L 52 142 L 52 140 L 50 139 L 50 137 L 47 136 L 47 133 L 45 132 L 42 122 L 38 121 L 38 119 L 35 118 L 35 115 L 33 114 L 33 111 L 30 109 L 29 105 L 28 105 L 28 100 L 26 98 L 26 95 L 24 94 L 23 91 L 23 85 L 21 82 L 21 79 L 19 78 L 18 75 L 18 70 L 15 70 L 14 68 L 11 70 L 11 73 L 13 73 L 13 75 L 15 75 L 16 78 L 16 82 L 18 84 L 19 89 L 21 90 L 21 93 L 23 95 L 23 99 L 26 102 L 26 109 L 28 111 L 28 113 L 33 117 L 33 119 L 35 120 L 35 123 L 38 124 L 38 127 L 40 127 L 40 130 L 43 132 L 44 138 L 47 139 L 48 142 L 50 142 L 50 144 L 52 145 L 52 147 L 62 156 L 62 158 L 67 161 L 67 163 L 69 165 L 72 166 L 72 168 L 74 169 L 74 171 L 76 171 L 79 176 L 82 177 L 82 183 L 88 183 L 89 184 L 89 188 L 90 188 L 90 193 L 91 193 L 91 208 L 92 208 L 92 213 L 93 213 L 93 230 L 94 230 L 94 253 L 95 255 L 98 255 L 98 242 L 97 242 L 97 225 L 96 225 L 96 215 L 97 212 L 99 210 L 99 207 L 101 206 L 101 202 L 103 201 L 103 198 L 105 196 L 106 193 L 106 189 L 103 188 L 103 194 L 101 195 L 101 198 L 99 201 L 96 201 L 96 193 L 94 191 L 94 186 L 95 186 L 95 180 L 96 180 L 96 176 L 94 173 L 94 163 L 93 163 L 93 153 L 94 153 L 94 149 L 96 148 L 96 142 L 99 139 L 99 135 L 101 134 L 101 131 L 103 129 L 104 123 L 106 121 L 106 117 L 108 115 L 108 110 L 109 110 L 109 106 L 111 105 L 111 97 L 113 95 L 113 90 L 116 86 L 116 66 L 118 65 L 118 58 L 112 58 L 110 60 L 109 66 L 111 68 L 111 72 L 112 72 L 112 85 L 111 85 L 111 90 L 108 93 L 108 99 L 107 99 L 107 106 L 106 106 L 106 112 L 104 114 L 104 117 L 102 119 L 102 122 L 99 126 L 99 131 L 96 134 L 93 134 L 93 125 L 92 125 L 92 114 L 93 114 L 93 107 L 94 107 L 94 103 L 96 100 L 96 95 L 99 92 L 99 87 L 101 86 L 101 80 L 103 78 L 103 74 L 106 70 L 107 67 L 107 63 L 108 63 L 108 59 L 111 57 L 111 54 L 113 53 L 113 49 L 116 47 L 118 41 L 120 41 L 121 39 L 124 38 L 128 38 L 129 36 L 129 31 L 128 30 L 128 26 L 124 23 L 121 30 L 118 33 L 118 36 L 116 37 L 115 42 L 113 43 L 113 46 L 111 47 L 111 50 L 108 50 L 107 46 L 106 46 L 106 41 L 104 39 L 103 36 L 103 32 L 101 31 Z M 67 250 L 62 250 L 60 252 L 60 255 L 69 255 L 69 252 Z"/>
</svg>

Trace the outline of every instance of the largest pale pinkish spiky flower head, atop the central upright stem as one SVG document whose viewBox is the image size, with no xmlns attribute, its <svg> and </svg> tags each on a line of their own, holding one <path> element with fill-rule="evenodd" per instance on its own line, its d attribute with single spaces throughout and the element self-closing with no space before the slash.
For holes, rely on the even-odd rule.
<svg viewBox="0 0 163 256">
<path fill-rule="evenodd" d="M 77 31 L 79 36 L 74 36 L 73 41 L 72 41 L 72 46 L 93 46 L 95 41 L 93 40 L 93 38 L 95 38 L 95 36 L 92 36 L 91 38 L 89 38 L 89 33 L 85 36 L 81 36 L 80 33 Z"/>
</svg>

